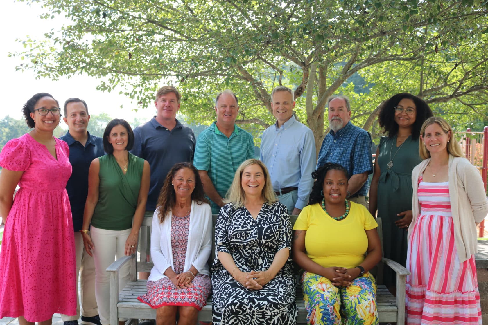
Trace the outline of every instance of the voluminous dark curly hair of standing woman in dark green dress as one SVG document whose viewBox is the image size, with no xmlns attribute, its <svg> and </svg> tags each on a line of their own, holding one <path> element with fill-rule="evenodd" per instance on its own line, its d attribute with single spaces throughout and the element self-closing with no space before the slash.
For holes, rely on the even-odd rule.
<svg viewBox="0 0 488 325">
<path fill-rule="evenodd" d="M 417 140 L 420 135 L 422 124 L 424 124 L 427 118 L 432 116 L 430 107 L 422 98 L 408 93 L 400 93 L 391 96 L 381 107 L 378 123 L 384 129 L 384 134 L 387 134 L 389 137 L 395 136 L 398 133 L 398 124 L 395 122 L 395 107 L 400 100 L 404 98 L 413 100 L 415 104 L 417 115 L 412 126 L 412 139 Z"/>
</svg>

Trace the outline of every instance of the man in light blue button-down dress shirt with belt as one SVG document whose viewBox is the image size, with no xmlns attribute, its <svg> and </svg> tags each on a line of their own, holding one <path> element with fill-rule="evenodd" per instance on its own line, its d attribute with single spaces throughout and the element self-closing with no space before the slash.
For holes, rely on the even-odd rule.
<svg viewBox="0 0 488 325">
<path fill-rule="evenodd" d="M 308 204 L 317 158 L 313 133 L 295 119 L 294 107 L 290 88 L 273 89 L 271 108 L 276 123 L 264 130 L 260 151 L 278 200 L 289 214 L 299 214 Z"/>
</svg>

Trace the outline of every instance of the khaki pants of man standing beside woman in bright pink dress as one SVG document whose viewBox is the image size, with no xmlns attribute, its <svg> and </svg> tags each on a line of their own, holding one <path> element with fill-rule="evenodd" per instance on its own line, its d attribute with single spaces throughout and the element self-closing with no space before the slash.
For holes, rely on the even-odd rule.
<svg viewBox="0 0 488 325">
<path fill-rule="evenodd" d="M 81 281 L 81 315 L 93 317 L 98 315 L 97 301 L 95 300 L 95 262 L 88 255 L 83 246 L 81 232 L 75 232 L 76 251 L 76 288 L 78 290 L 78 276 Z M 76 295 L 76 316 L 61 314 L 61 320 L 76 321 L 80 318 L 80 297 Z"/>
</svg>

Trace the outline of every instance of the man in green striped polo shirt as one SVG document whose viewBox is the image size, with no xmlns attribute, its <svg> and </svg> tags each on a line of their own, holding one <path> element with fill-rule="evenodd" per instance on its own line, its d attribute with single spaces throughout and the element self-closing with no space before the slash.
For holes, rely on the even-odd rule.
<svg viewBox="0 0 488 325">
<path fill-rule="evenodd" d="M 211 200 L 212 213 L 218 214 L 237 168 L 244 160 L 254 158 L 254 140 L 235 124 L 239 103 L 232 91 L 217 95 L 215 112 L 217 121 L 198 136 L 193 164 Z"/>
</svg>

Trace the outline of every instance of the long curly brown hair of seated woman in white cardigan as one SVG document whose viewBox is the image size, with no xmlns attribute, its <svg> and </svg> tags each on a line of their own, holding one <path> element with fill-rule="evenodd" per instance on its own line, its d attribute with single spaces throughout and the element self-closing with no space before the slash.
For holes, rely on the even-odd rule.
<svg viewBox="0 0 488 325">
<path fill-rule="evenodd" d="M 181 162 L 176 163 L 171 169 L 169 170 L 168 174 L 166 175 L 166 179 L 164 180 L 163 188 L 159 193 L 158 203 L 156 203 L 156 209 L 158 210 L 158 217 L 159 222 L 163 223 L 164 218 L 169 210 L 176 204 L 176 194 L 175 189 L 171 182 L 175 177 L 175 174 L 183 169 L 188 168 L 190 169 L 193 174 L 195 175 L 195 189 L 191 193 L 192 201 L 197 201 L 198 204 L 208 203 L 207 199 L 205 198 L 205 193 L 203 192 L 203 183 L 200 175 L 198 174 L 197 169 L 190 163 Z"/>
</svg>

